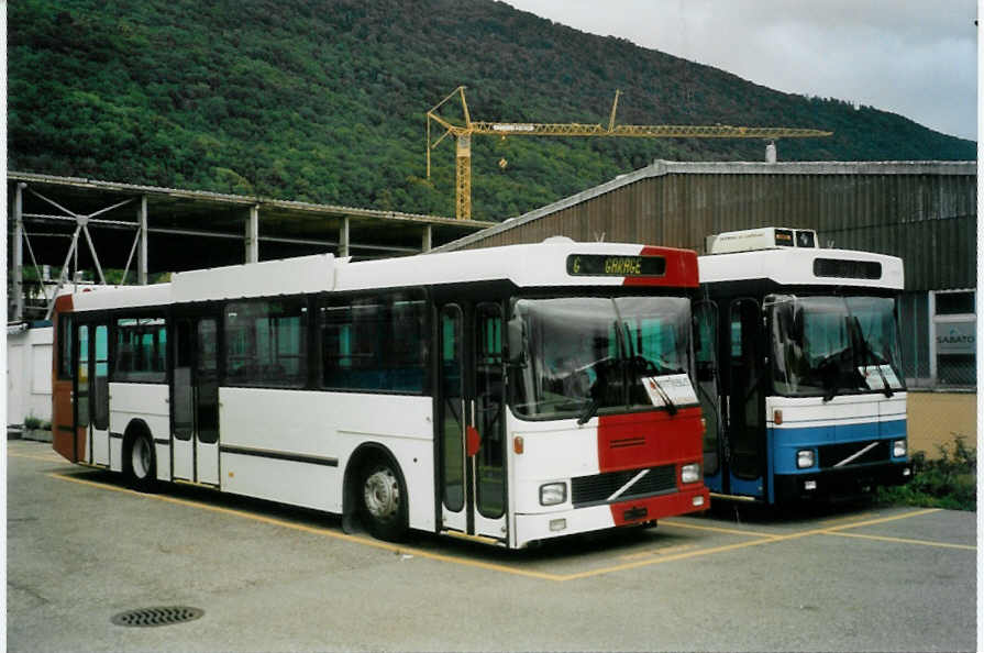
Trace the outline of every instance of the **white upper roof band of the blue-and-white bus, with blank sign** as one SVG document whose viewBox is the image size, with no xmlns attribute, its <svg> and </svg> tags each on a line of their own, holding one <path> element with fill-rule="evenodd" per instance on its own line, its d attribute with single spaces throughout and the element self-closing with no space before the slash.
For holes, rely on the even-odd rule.
<svg viewBox="0 0 984 653">
<path fill-rule="evenodd" d="M 902 290 L 902 258 L 853 250 L 777 248 L 711 254 L 699 259 L 700 283 L 770 279 L 785 286 L 860 286 Z"/>
</svg>

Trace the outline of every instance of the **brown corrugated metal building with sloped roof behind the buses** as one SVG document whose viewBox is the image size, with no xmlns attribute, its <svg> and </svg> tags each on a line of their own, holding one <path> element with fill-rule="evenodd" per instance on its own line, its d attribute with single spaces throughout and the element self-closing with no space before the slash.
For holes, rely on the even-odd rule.
<svg viewBox="0 0 984 653">
<path fill-rule="evenodd" d="M 976 164 L 655 162 L 440 250 L 539 242 L 640 242 L 704 253 L 709 234 L 817 230 L 821 246 L 900 256 L 911 385 L 972 386 Z"/>
</svg>

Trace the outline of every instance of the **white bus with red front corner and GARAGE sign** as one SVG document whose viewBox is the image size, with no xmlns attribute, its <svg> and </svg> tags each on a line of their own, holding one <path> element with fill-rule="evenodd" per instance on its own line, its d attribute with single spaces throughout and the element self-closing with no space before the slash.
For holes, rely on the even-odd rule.
<svg viewBox="0 0 984 653">
<path fill-rule="evenodd" d="M 704 510 L 694 252 L 548 242 L 56 300 L 54 449 L 509 547 Z"/>
</svg>

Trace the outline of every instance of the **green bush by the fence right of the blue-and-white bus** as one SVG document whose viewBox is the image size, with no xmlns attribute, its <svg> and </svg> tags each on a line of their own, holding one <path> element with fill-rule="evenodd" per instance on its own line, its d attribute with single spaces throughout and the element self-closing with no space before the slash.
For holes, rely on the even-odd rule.
<svg viewBox="0 0 984 653">
<path fill-rule="evenodd" d="M 939 444 L 940 457 L 927 460 L 925 452 L 913 454 L 913 479 L 903 486 L 881 488 L 878 500 L 904 506 L 977 509 L 977 452 L 963 435 Z"/>
</svg>

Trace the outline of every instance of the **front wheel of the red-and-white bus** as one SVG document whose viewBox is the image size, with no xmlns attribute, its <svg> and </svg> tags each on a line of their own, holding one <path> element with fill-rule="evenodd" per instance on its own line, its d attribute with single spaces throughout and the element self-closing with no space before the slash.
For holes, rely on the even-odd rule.
<svg viewBox="0 0 984 653">
<path fill-rule="evenodd" d="M 360 483 L 362 522 L 373 536 L 399 542 L 407 533 L 407 488 L 399 469 L 385 458 L 363 467 Z"/>
</svg>

